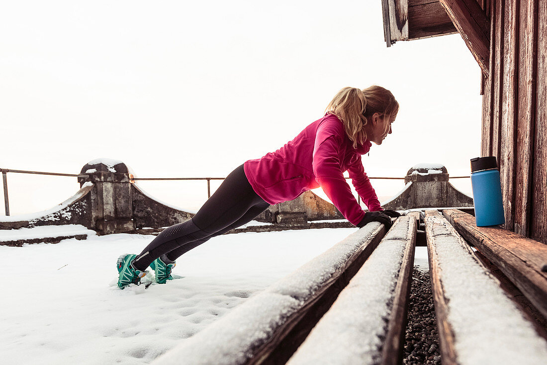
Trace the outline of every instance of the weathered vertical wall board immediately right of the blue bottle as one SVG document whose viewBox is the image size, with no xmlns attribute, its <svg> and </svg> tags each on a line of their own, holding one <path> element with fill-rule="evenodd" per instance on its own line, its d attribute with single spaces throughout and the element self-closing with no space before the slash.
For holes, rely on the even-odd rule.
<svg viewBox="0 0 547 365">
<path fill-rule="evenodd" d="M 515 127 L 516 127 L 516 82 L 517 42 L 519 39 L 519 8 L 517 0 L 505 1 L 503 37 L 503 82 L 502 82 L 502 129 L 499 172 L 502 183 L 504 228 L 514 226 L 514 185 L 515 185 Z"/>
</svg>

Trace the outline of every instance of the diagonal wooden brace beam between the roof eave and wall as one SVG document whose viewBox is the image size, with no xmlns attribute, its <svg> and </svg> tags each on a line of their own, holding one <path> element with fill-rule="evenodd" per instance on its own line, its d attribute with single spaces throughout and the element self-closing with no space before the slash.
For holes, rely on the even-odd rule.
<svg viewBox="0 0 547 365">
<path fill-rule="evenodd" d="M 439 0 L 465 44 L 488 75 L 490 21 L 476 0 Z"/>
</svg>

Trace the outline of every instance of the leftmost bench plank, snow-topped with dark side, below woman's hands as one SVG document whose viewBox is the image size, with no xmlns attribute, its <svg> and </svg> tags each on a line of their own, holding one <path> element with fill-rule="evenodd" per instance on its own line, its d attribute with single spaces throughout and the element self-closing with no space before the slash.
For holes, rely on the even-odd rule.
<svg viewBox="0 0 547 365">
<path fill-rule="evenodd" d="M 369 223 L 154 364 L 286 362 L 384 235 L 382 224 Z"/>
</svg>

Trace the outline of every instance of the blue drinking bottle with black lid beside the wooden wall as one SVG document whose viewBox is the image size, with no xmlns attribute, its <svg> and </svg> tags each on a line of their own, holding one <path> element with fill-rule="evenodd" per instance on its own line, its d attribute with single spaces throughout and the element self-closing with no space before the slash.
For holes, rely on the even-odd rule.
<svg viewBox="0 0 547 365">
<path fill-rule="evenodd" d="M 471 159 L 471 186 L 477 227 L 504 224 L 502 185 L 495 156 Z"/>
</svg>

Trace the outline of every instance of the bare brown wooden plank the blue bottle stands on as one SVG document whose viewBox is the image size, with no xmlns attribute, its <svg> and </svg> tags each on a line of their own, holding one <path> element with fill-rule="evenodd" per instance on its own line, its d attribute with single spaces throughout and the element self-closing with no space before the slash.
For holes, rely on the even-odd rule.
<svg viewBox="0 0 547 365">
<path fill-rule="evenodd" d="M 474 216 L 457 209 L 444 210 L 443 214 L 547 317 L 547 273 L 542 272 L 547 245 L 499 227 L 477 227 Z"/>
</svg>

